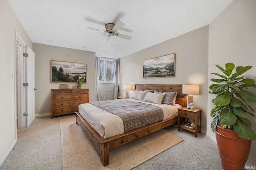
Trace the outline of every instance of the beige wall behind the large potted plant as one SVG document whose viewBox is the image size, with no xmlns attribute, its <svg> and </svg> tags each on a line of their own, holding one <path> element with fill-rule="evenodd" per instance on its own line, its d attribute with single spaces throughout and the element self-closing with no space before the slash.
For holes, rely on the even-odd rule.
<svg viewBox="0 0 256 170">
<path fill-rule="evenodd" d="M 215 64 L 225 67 L 226 63 L 236 66 L 252 65 L 244 75 L 246 78 L 256 80 L 256 1 L 234 0 L 212 23 L 209 25 L 209 62 L 208 80 L 216 78 L 210 72 L 221 73 Z M 212 84 L 211 81 L 208 85 Z M 256 90 L 250 90 L 256 93 Z M 214 95 L 208 95 L 208 113 L 214 107 L 211 100 Z M 256 103 L 250 106 L 256 110 Z M 254 112 L 256 115 L 256 113 Z M 256 117 L 248 115 L 252 128 L 256 131 Z M 207 117 L 207 131 L 212 133 L 210 114 Z M 212 135 L 215 136 L 214 133 Z M 252 141 L 252 148 L 247 164 L 255 166 L 256 141 Z"/>
</svg>

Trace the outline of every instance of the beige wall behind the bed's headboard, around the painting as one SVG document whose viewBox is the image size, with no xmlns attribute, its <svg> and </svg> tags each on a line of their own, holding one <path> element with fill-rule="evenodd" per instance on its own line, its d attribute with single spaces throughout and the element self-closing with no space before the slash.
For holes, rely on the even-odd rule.
<svg viewBox="0 0 256 170">
<path fill-rule="evenodd" d="M 142 61 L 176 53 L 176 77 L 142 78 Z M 120 96 L 126 84 L 199 84 L 195 107 L 202 108 L 202 130 L 206 133 L 208 95 L 208 26 L 154 45 L 120 59 Z"/>
</svg>

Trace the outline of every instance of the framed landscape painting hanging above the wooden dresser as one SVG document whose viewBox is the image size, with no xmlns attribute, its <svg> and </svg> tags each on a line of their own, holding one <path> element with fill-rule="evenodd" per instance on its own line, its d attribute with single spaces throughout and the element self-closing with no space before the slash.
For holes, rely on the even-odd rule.
<svg viewBox="0 0 256 170">
<path fill-rule="evenodd" d="M 78 77 L 87 83 L 87 64 L 51 60 L 51 82 L 76 82 Z"/>
</svg>

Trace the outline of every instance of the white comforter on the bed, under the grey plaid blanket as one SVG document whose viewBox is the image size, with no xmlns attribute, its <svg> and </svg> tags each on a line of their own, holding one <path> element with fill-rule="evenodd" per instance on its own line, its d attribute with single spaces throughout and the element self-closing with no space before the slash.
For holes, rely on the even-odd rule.
<svg viewBox="0 0 256 170">
<path fill-rule="evenodd" d="M 126 99 L 124 99 L 126 100 Z M 135 99 L 129 99 L 134 102 L 142 102 Z M 176 117 L 178 115 L 178 109 L 181 107 L 179 104 L 174 104 L 174 106 L 167 104 L 153 104 L 149 102 L 142 102 L 146 104 L 152 104 L 154 106 L 159 106 L 163 109 L 164 120 Z M 114 115 L 96 107 L 90 103 L 81 104 L 78 106 L 78 111 L 82 117 L 92 126 L 92 128 L 100 134 L 103 139 L 120 135 L 124 133 L 124 123 L 118 115 Z"/>
</svg>

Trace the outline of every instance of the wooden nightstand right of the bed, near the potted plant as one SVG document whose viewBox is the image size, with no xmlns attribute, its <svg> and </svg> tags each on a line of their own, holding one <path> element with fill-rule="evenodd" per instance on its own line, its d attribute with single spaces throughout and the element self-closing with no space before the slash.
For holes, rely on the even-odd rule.
<svg viewBox="0 0 256 170">
<path fill-rule="evenodd" d="M 202 129 L 202 117 L 201 117 L 201 111 L 202 109 L 194 108 L 194 109 L 188 109 L 187 107 L 178 108 L 178 131 L 180 131 L 180 128 L 185 129 L 187 131 L 195 133 L 195 137 L 197 137 L 197 131 L 201 132 Z M 185 123 L 180 125 L 180 117 L 185 118 Z M 197 119 L 200 118 L 200 124 L 197 124 Z M 192 119 L 195 122 L 195 128 L 190 129 L 188 127 L 185 127 L 185 124 L 188 123 L 188 119 Z"/>
</svg>

